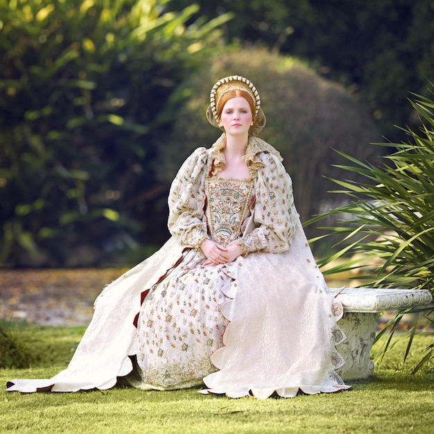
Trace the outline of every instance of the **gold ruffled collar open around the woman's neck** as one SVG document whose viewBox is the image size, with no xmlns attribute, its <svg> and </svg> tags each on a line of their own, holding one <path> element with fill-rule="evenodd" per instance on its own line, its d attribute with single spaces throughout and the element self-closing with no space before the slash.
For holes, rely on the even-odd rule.
<svg viewBox="0 0 434 434">
<path fill-rule="evenodd" d="M 226 146 L 226 134 L 223 133 L 210 149 L 208 159 L 208 174 L 214 176 L 226 167 L 226 159 L 223 149 Z M 245 150 L 244 161 L 247 164 L 251 177 L 256 177 L 259 168 L 263 168 L 263 162 L 259 157 L 261 153 L 276 155 L 280 161 L 282 157 L 278 150 L 259 137 L 249 137 L 249 143 Z"/>
</svg>

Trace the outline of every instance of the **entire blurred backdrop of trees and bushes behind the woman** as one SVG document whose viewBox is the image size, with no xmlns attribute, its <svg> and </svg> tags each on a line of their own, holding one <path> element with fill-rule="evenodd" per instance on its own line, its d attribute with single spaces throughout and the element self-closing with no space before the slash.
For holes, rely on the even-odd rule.
<svg viewBox="0 0 434 434">
<path fill-rule="evenodd" d="M 124 265 L 158 248 L 171 179 L 218 137 L 209 89 L 232 74 L 261 92 L 261 137 L 308 220 L 341 205 L 332 148 L 393 152 L 370 142 L 417 125 L 406 98 L 433 71 L 431 0 L 0 0 L 0 263 Z"/>
</svg>

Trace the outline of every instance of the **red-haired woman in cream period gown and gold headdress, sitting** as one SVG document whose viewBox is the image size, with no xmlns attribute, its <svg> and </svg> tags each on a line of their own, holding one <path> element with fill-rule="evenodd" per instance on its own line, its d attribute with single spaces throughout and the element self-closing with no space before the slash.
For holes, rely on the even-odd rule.
<svg viewBox="0 0 434 434">
<path fill-rule="evenodd" d="M 107 286 L 67 370 L 13 380 L 8 390 L 205 385 L 203 393 L 293 397 L 345 385 L 345 339 L 306 241 L 290 177 L 241 76 L 211 89 L 207 119 L 224 132 L 186 159 L 171 186 L 171 239 Z"/>
</svg>

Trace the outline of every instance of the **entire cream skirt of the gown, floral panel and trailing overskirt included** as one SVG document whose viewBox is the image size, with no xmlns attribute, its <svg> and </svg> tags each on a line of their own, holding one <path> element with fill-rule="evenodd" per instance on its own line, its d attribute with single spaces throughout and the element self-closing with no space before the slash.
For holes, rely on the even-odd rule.
<svg viewBox="0 0 434 434">
<path fill-rule="evenodd" d="M 342 315 L 298 227 L 290 250 L 222 266 L 171 238 L 107 286 L 66 370 L 8 381 L 9 391 L 203 385 L 202 393 L 258 398 L 348 389 L 336 374 Z"/>
</svg>

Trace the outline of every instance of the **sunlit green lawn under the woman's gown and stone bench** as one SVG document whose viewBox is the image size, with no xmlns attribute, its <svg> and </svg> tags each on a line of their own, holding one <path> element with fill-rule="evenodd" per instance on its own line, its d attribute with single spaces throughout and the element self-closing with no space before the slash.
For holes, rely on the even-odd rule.
<svg viewBox="0 0 434 434">
<path fill-rule="evenodd" d="M 35 351 L 25 370 L 0 370 L 0 383 L 45 378 L 67 366 L 84 327 L 40 327 L 11 323 Z M 431 433 L 434 370 L 411 375 L 432 336 L 419 335 L 403 364 L 403 335 L 369 380 L 353 389 L 293 399 L 228 399 L 198 390 L 144 392 L 118 385 L 104 392 L 20 394 L 0 392 L 0 432 L 19 433 Z M 372 356 L 381 354 L 378 342 Z"/>
</svg>

